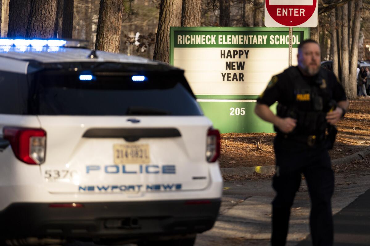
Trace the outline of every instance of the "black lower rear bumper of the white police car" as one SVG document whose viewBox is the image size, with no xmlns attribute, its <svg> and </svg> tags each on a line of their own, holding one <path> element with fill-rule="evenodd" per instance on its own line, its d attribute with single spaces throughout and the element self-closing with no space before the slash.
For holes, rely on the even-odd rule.
<svg viewBox="0 0 370 246">
<path fill-rule="evenodd" d="M 16 203 L 0 212 L 0 238 L 142 239 L 200 233 L 212 228 L 220 204 L 220 199 L 96 202 L 83 207 Z"/>
</svg>

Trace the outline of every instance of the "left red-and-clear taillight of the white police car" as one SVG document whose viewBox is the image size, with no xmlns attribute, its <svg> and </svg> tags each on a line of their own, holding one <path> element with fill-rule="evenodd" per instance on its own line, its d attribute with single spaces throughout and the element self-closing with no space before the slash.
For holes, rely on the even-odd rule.
<svg viewBox="0 0 370 246">
<path fill-rule="evenodd" d="M 42 164 L 45 161 L 46 132 L 43 129 L 4 127 L 3 137 L 22 162 Z"/>
</svg>

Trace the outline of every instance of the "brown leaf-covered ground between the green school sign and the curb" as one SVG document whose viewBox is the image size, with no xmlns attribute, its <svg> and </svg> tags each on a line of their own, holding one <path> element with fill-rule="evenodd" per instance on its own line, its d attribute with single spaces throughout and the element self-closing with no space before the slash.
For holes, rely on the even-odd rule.
<svg viewBox="0 0 370 246">
<path fill-rule="evenodd" d="M 370 100 L 351 100 L 346 117 L 337 123 L 332 159 L 348 156 L 370 145 Z M 220 167 L 253 167 L 275 164 L 275 133 L 221 134 Z"/>
</svg>

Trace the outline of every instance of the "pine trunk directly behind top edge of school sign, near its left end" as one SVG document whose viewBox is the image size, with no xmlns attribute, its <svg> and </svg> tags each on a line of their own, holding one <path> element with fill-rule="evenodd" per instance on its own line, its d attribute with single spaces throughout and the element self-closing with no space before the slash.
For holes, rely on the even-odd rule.
<svg viewBox="0 0 370 246">
<path fill-rule="evenodd" d="M 182 0 L 182 27 L 199 27 L 201 25 L 202 1 Z"/>
</svg>

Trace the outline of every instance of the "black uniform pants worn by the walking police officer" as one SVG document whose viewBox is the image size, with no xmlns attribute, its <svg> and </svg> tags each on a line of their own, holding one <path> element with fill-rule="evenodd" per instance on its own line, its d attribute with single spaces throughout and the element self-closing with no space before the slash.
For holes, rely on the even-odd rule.
<svg viewBox="0 0 370 246">
<path fill-rule="evenodd" d="M 272 246 L 283 246 L 288 233 L 290 208 L 304 174 L 311 198 L 310 228 L 314 246 L 333 245 L 331 197 L 334 173 L 327 149 L 291 152 L 276 148 L 276 174 L 272 202 Z"/>
</svg>

